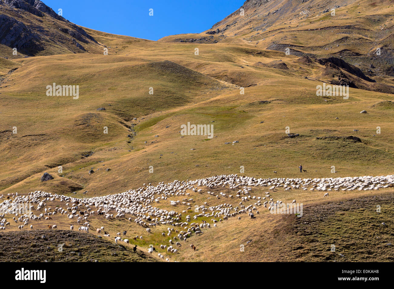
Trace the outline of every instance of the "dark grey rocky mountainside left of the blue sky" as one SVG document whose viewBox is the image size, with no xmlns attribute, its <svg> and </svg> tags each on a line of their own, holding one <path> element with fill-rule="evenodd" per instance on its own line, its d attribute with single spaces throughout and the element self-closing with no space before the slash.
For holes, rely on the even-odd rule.
<svg viewBox="0 0 394 289">
<path fill-rule="evenodd" d="M 43 24 L 32 21 L 33 18 Z M 59 32 L 50 31 L 48 25 Z M 98 44 L 84 29 L 39 0 L 0 0 L 0 44 L 33 56 L 52 46 L 51 41 L 74 53 L 86 51 L 79 42 Z"/>
</svg>

